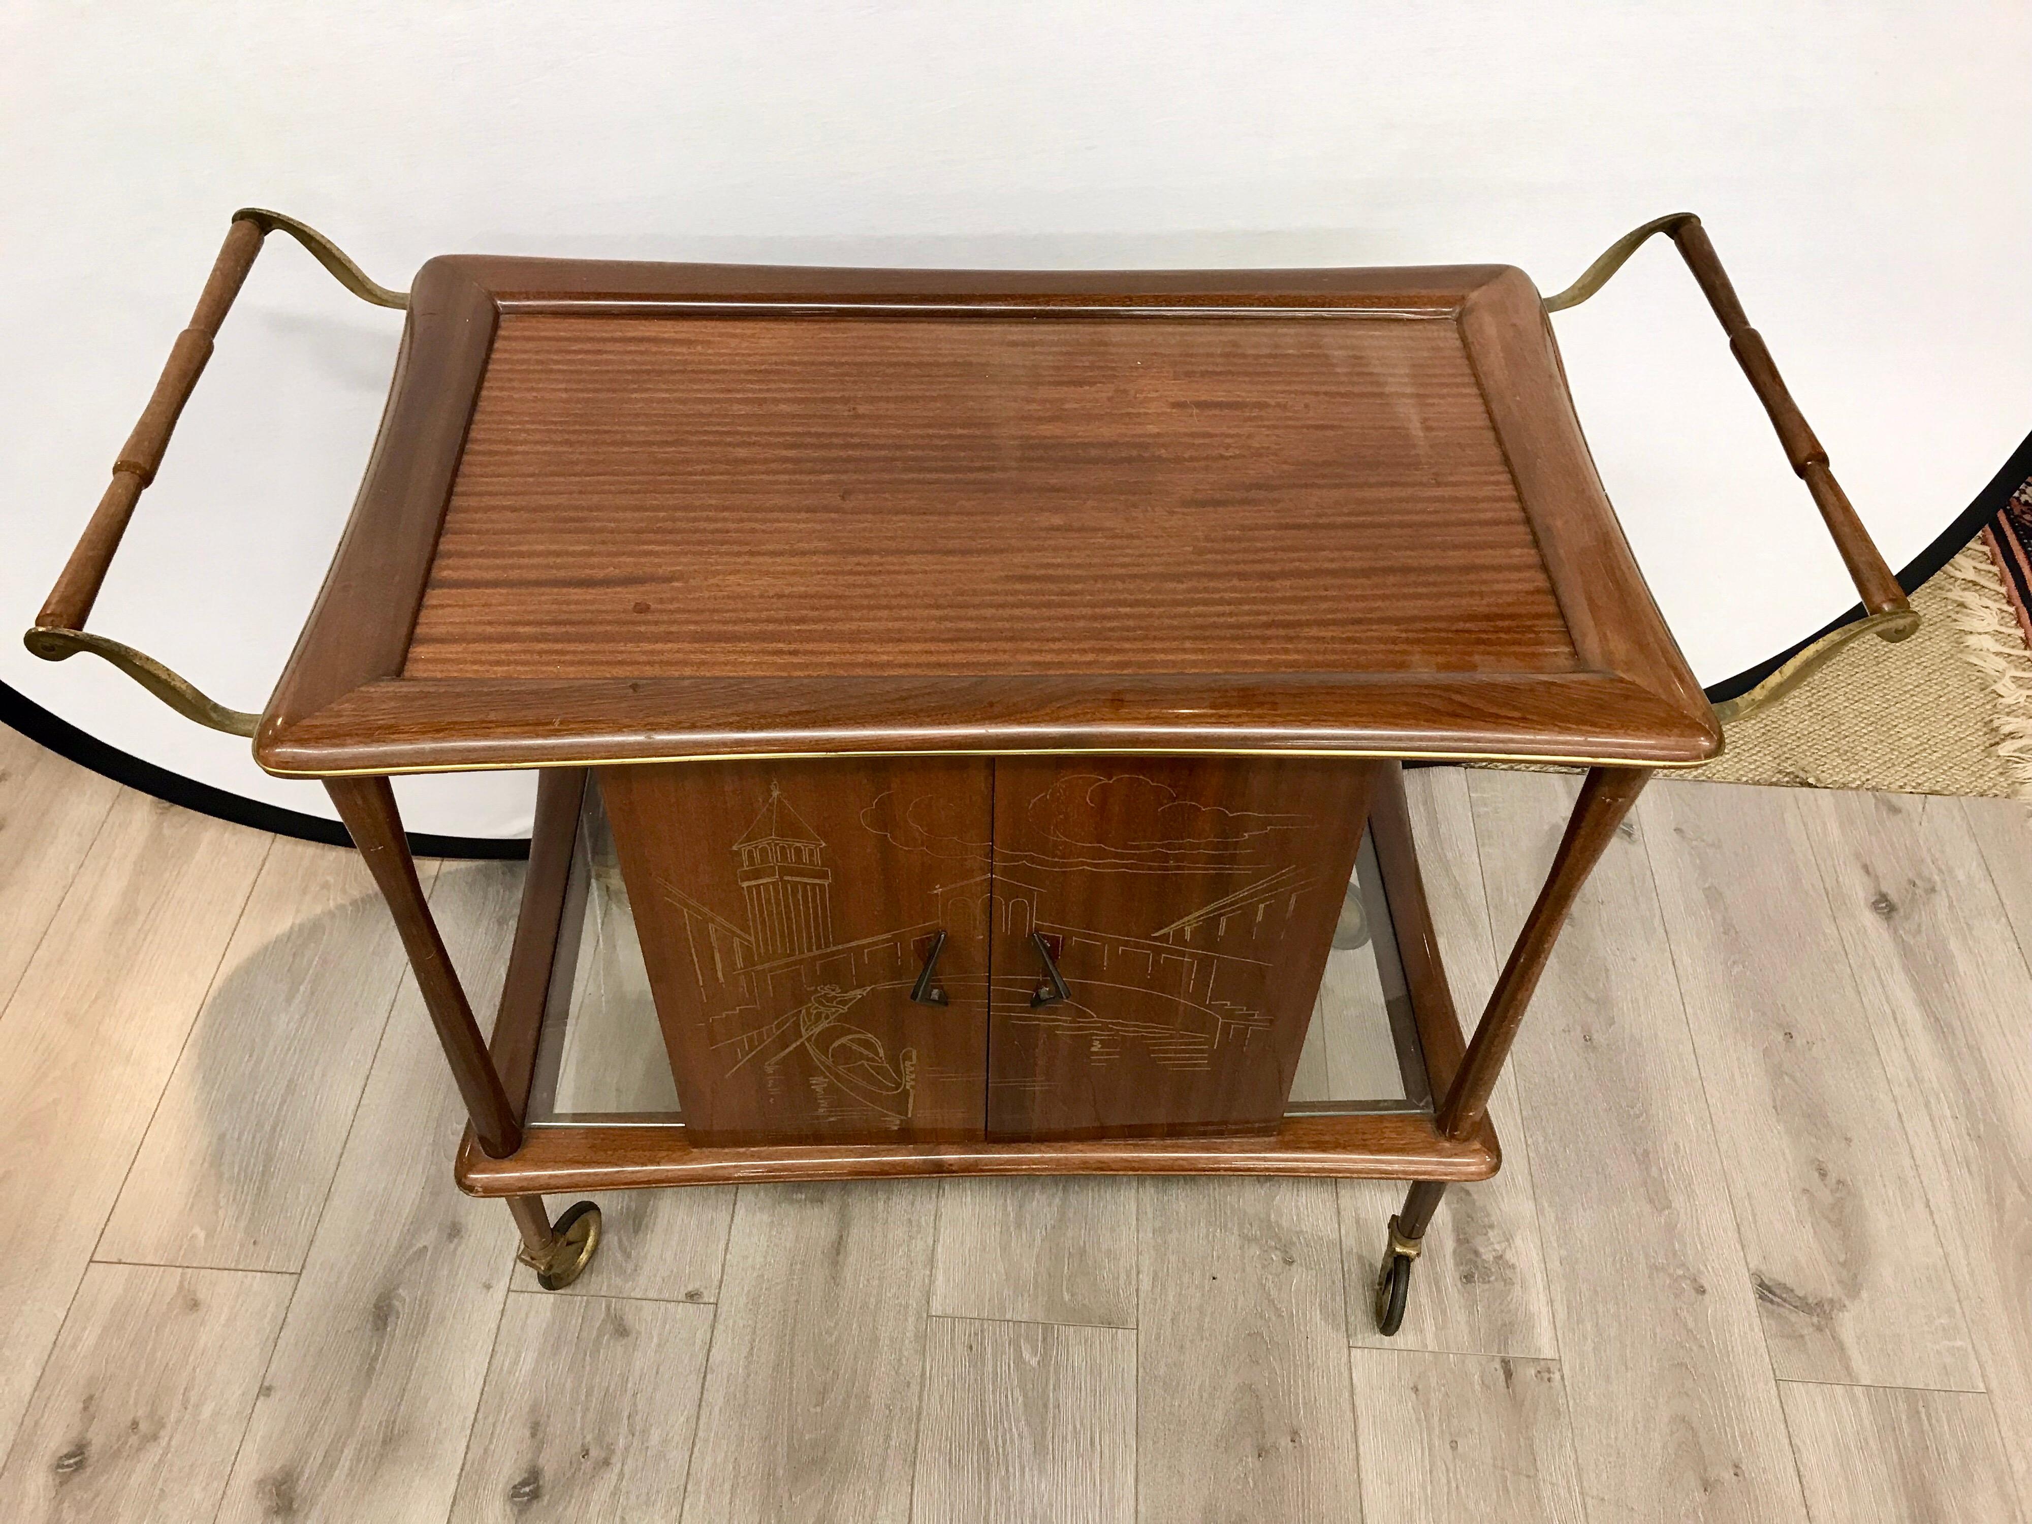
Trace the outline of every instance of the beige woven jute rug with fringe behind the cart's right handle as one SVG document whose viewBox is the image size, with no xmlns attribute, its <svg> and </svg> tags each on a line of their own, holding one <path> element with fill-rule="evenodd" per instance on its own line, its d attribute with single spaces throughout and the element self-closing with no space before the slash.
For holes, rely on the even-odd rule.
<svg viewBox="0 0 2032 1524">
<path fill-rule="evenodd" d="M 2028 543 L 2032 482 L 1912 593 L 1918 634 L 1851 642 L 1682 776 L 2032 799 Z"/>
</svg>

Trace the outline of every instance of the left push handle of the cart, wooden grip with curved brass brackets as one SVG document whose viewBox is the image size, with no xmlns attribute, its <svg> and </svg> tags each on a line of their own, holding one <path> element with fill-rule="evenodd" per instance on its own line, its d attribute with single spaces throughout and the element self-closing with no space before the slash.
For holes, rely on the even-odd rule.
<svg viewBox="0 0 2032 1524">
<path fill-rule="evenodd" d="M 219 333 L 219 323 L 226 321 L 226 313 L 232 311 L 234 299 L 248 278 L 248 270 L 254 268 L 254 256 L 260 254 L 262 240 L 274 230 L 287 232 L 311 250 L 317 262 L 331 270 L 339 284 L 362 301 L 370 301 L 376 307 L 408 307 L 404 293 L 368 280 L 360 272 L 360 266 L 345 258 L 315 228 L 307 228 L 295 217 L 284 217 L 280 211 L 264 211 L 262 207 L 242 207 L 236 211 L 232 226 L 226 230 L 226 244 L 219 248 L 219 258 L 213 260 L 211 274 L 205 278 L 205 289 L 197 299 L 197 311 L 191 313 L 191 325 L 177 335 L 177 343 L 169 352 L 169 364 L 163 366 L 163 374 L 154 382 L 154 392 L 148 396 L 148 406 L 142 408 L 140 423 L 134 425 L 134 433 L 128 435 L 126 445 L 114 459 L 114 480 L 106 486 L 91 522 L 85 524 L 85 532 L 71 551 L 71 559 L 65 561 L 63 571 L 57 575 L 57 585 L 49 591 L 43 612 L 37 614 L 35 628 L 22 636 L 22 644 L 43 660 L 61 662 L 79 650 L 110 660 L 185 719 L 195 719 L 199 725 L 209 725 L 211 729 L 224 729 L 228 736 L 252 736 L 260 715 L 244 709 L 228 709 L 224 703 L 205 697 L 197 685 L 179 677 L 154 660 L 154 656 L 134 650 L 134 646 L 85 634 L 85 620 L 98 601 L 100 587 L 106 581 L 106 571 L 112 567 L 114 551 L 120 549 L 120 538 L 126 534 L 128 520 L 134 516 L 134 504 L 140 502 L 142 490 L 154 482 L 183 404 L 191 400 L 197 378 L 205 374 L 205 362 L 211 360 L 211 341 Z"/>
</svg>

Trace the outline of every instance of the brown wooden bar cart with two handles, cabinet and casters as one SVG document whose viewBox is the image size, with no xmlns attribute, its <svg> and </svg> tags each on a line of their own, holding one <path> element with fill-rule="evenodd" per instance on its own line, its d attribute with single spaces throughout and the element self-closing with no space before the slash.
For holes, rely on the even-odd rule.
<svg viewBox="0 0 2032 1524">
<path fill-rule="evenodd" d="M 270 230 L 408 309 L 260 715 L 83 624 Z M 1693 217 L 1508 266 L 927 272 L 437 258 L 404 297 L 240 213 L 28 644 L 319 778 L 545 1286 L 553 1193 L 896 1174 L 1410 1181 L 1394 1333 L 1561 920 L 1721 748 L 1546 311 L 1687 256 L 1865 601 L 1914 616 Z M 1798 681 L 1808 652 L 1768 691 Z M 1404 762 L 1587 768 L 1463 1034 Z M 492 1038 L 388 778 L 536 768 Z"/>
</svg>

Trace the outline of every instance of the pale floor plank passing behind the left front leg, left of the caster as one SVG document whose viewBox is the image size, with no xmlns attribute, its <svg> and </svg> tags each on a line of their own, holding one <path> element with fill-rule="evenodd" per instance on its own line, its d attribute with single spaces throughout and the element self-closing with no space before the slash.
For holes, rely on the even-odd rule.
<svg viewBox="0 0 2032 1524">
<path fill-rule="evenodd" d="M 431 908 L 475 1010 L 500 992 L 520 864 L 457 864 Z M 508 1294 L 516 1233 L 451 1183 L 465 1122 L 406 981 L 219 1520 L 441 1524 Z"/>
</svg>

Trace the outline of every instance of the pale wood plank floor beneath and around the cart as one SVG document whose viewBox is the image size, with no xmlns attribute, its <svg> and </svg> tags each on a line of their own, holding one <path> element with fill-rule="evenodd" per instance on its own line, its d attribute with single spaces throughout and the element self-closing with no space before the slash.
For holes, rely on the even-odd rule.
<svg viewBox="0 0 2032 1524">
<path fill-rule="evenodd" d="M 1455 955 L 1451 906 L 1465 900 L 1471 920 L 1469 886 L 1485 880 L 1496 931 L 1506 933 L 1536 890 L 1571 799 L 1571 780 L 1469 776 L 1408 778 L 1420 845 L 1445 849 L 1443 866 L 1428 864 L 1426 890 L 1463 1000 L 1491 977 L 1494 953 Z M 1453 819 L 1455 792 L 1471 792 L 1479 809 L 1469 829 Z M 443 1524 L 455 1502 L 514 1518 L 543 1516 L 547 1500 L 553 1512 L 575 1504 L 573 1516 L 595 1518 L 616 1496 L 652 1500 L 624 1504 L 630 1516 L 673 1516 L 687 1461 L 693 1518 L 715 1524 L 900 1520 L 912 1500 L 920 1514 L 945 1500 L 988 1516 L 1026 1500 L 1042 1500 L 1046 1516 L 1077 1514 L 1087 1498 L 1118 1496 L 1093 1467 L 1128 1469 L 1118 1441 L 1128 1404 L 1107 1396 L 1112 1366 L 1087 1355 L 1134 1337 L 1130 1459 L 1152 1524 L 1339 1524 L 1357 1508 L 1368 1520 L 1449 1508 L 1561 1518 L 1561 1412 L 1544 1380 L 1554 1359 L 1573 1471 L 1595 1524 L 2024 1524 L 2032 1494 L 2018 1485 L 2014 1459 L 2026 1453 L 2020 1414 L 2032 1402 L 2032 971 L 2022 955 L 2032 933 L 2032 811 L 2010 801 L 1778 792 L 1806 821 L 1825 884 L 1817 890 L 1796 876 L 1792 847 L 1762 829 L 1776 817 L 1741 809 L 1737 792 L 1774 795 L 1689 784 L 1687 799 L 1666 801 L 1699 843 L 1658 827 L 1656 795 L 1638 811 L 1581 896 L 1524 1022 L 1524 1126 L 1506 1130 L 1512 1156 L 1498 1187 L 1522 1191 L 1522 1219 L 1544 1223 L 1542 1268 L 1557 1307 L 1542 1323 L 1546 1359 L 1506 1366 L 1404 1347 L 1426 1335 L 1467 1347 L 1532 1327 L 1522 1286 L 1502 1270 L 1524 1254 L 1514 1217 L 1477 1225 L 1455 1258 L 1441 1258 L 1463 1203 L 1481 1199 L 1449 1189 L 1398 1347 L 1341 1353 L 1353 1404 L 1345 1422 L 1331 1416 L 1339 1398 L 1327 1357 L 1337 1341 L 1363 1339 L 1370 1288 L 1366 1272 L 1351 1278 L 1343 1325 L 1333 1262 L 1374 1254 L 1380 1215 L 1349 1211 L 1353 1195 L 1343 1191 L 1335 1223 L 1323 1183 L 888 1183 L 817 1193 L 823 1207 L 809 1215 L 805 1189 L 744 1187 L 742 1211 L 766 1221 L 750 1217 L 725 1256 L 723 1211 L 736 1191 L 616 1193 L 581 1294 L 504 1294 L 514 1231 L 500 1205 L 459 1201 L 449 1189 L 445 1148 L 459 1107 L 415 992 L 374 1059 L 301 1274 L 87 1268 L 87 1256 L 104 1252 L 93 1235 L 142 1120 L 169 1093 L 171 1059 L 199 1006 L 191 969 L 217 963 L 232 941 L 234 910 L 221 904 L 256 882 L 264 843 L 203 823 L 177 835 L 148 825 L 150 813 L 181 819 L 175 811 L 140 803 L 130 813 L 122 803 L 75 872 L 63 843 L 85 827 L 53 807 L 63 790 L 30 788 L 35 807 L 12 815 L 12 795 L 0 792 L 14 862 L 67 880 L 53 894 L 0 874 L 0 904 L 61 900 L 0 1016 L 16 1075 L 0 1195 L 39 1250 L 10 1260 L 20 1274 L 6 1282 L 0 1317 L 0 1374 L 20 1382 L 8 1388 L 18 1406 L 0 1414 L 0 1445 L 12 1445 L 0 1516 L 209 1520 L 221 1502 L 219 1467 L 236 1451 L 242 1475 L 226 1489 L 228 1520 Z M 1445 829 L 1428 831 L 1428 819 Z M 1770 874 L 1743 878 L 1731 866 L 1723 837 L 1750 831 L 1766 845 L 1776 839 Z M 254 855 L 234 853 L 236 839 L 252 841 Z M 1784 864 L 1794 866 L 1778 872 Z M 1678 939 L 1674 920 L 1674 941 L 1660 941 L 1660 900 L 1672 900 L 1666 880 L 1676 876 L 1719 892 L 1723 906 L 1703 916 L 1719 925 L 1727 914 L 1729 937 Z M 514 866 L 447 866 L 433 888 L 482 1012 L 500 986 L 520 878 Z M 1725 904 L 1737 888 L 1748 910 Z M 1709 898 L 1703 890 L 1703 904 Z M 313 925 L 323 902 L 307 880 Z M 278 920 L 278 906 L 250 902 L 246 935 L 264 914 Z M 1833 918 L 1839 949 L 1825 945 L 1817 916 Z M 358 929 L 366 935 L 372 923 Z M 268 943 L 293 945 L 272 920 L 268 931 Z M 1772 1189 L 1774 1160 L 1829 1148 L 1849 1114 L 1829 1112 L 1811 1087 L 1798 1089 L 1798 1105 L 1731 1109 L 1741 1087 L 1707 1063 L 1709 1038 L 1689 1034 L 1687 1016 L 1731 967 L 1762 969 L 1772 949 L 1806 949 L 1802 961 L 1823 965 L 1829 981 L 1837 969 L 1825 959 L 1853 969 L 1867 1022 L 1817 1028 L 1819 1061 L 1853 1077 L 1882 1055 L 1898 1105 L 1890 1126 L 1910 1140 L 1947 1264 L 1934 1296 L 1963 1309 L 1985 1392 L 1914 1390 L 1939 1380 L 1932 1351 L 1914 1345 L 1910 1366 L 1892 1363 L 1908 1309 L 1867 1286 L 1841 1321 L 1855 1347 L 1878 1351 L 1890 1386 L 1770 1378 L 1770 1359 L 1786 1357 L 1786 1329 L 1758 1315 L 1758 1225 L 1733 1205 L 1743 1191 Z M 343 963 L 345 947 L 331 943 L 329 955 Z M 1788 981 L 1772 988 L 1782 1000 L 1766 1036 L 1776 1042 L 1776 1018 L 1796 1008 L 1796 992 Z M 268 1030 L 291 1053 L 301 1036 L 284 1004 L 258 1008 L 280 1024 L 238 1028 L 248 1065 Z M 337 1069 L 321 1085 L 333 1077 Z M 323 1105 L 321 1091 L 307 1103 Z M 1782 1138 L 1756 1150 L 1725 1142 L 1752 1122 Z M 1526 1154 L 1532 1168 L 1520 1172 Z M 1014 1203 L 1002 1195 L 1012 1187 Z M 144 1215 L 140 1177 L 126 1189 L 134 1199 L 122 1213 Z M 1380 1205 L 1392 1209 L 1398 1191 Z M 1142 1211 L 1126 1205 L 1136 1197 L 1146 1199 Z M 990 1199 L 1008 1211 L 990 1211 Z M 183 1213 L 183 1201 L 201 1197 L 169 1197 L 163 1215 Z M 681 1211 L 624 1219 L 634 1205 Z M 161 1235 L 173 1242 L 177 1225 Z M 1032 1252 L 1030 1240 L 1051 1235 L 1083 1242 L 1077 1254 Z M 1485 1278 L 1473 1278 L 1477 1270 Z M 189 1288 L 201 1300 L 195 1311 Z M 719 1305 L 675 1305 L 693 1294 Z M 1428 1303 L 1443 1309 L 1437 1325 L 1416 1321 Z M 636 1311 L 630 1339 L 610 1337 L 595 1307 Z M 963 1315 L 941 1319 L 941 1309 Z M 650 1333 L 664 1315 L 715 1323 L 707 1363 L 723 1368 L 703 1406 L 697 1366 Z M 289 1327 L 264 1355 L 276 1317 Z M 1097 1317 L 1130 1323 L 1134 1335 L 1077 1327 Z M 943 1327 L 983 1329 L 983 1339 L 935 1347 Z M 786 1331 L 805 1337 L 788 1341 Z M 687 1457 L 675 1437 L 693 1414 L 699 1445 Z M 967 1443 L 990 1428 L 990 1445 L 1000 1439 L 1004 1449 Z M 626 1457 L 599 1465 L 622 1455 L 606 1439 L 624 1431 L 634 1437 Z M 484 1465 L 455 1500 L 471 1457 Z M 541 1477 L 530 1477 L 530 1461 Z M 1095 1477 L 1083 1498 L 1065 1491 L 1075 1475 Z"/>
</svg>

